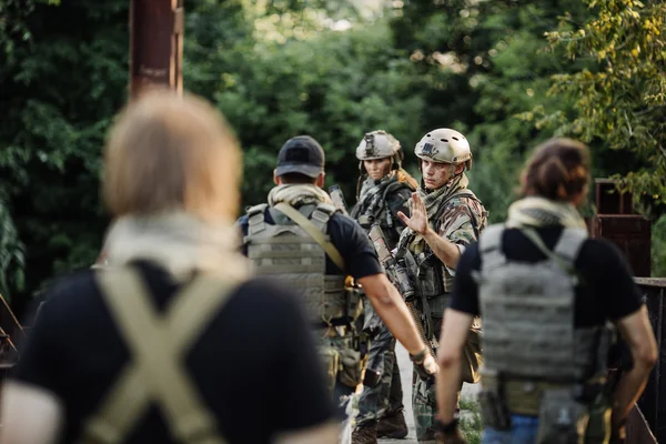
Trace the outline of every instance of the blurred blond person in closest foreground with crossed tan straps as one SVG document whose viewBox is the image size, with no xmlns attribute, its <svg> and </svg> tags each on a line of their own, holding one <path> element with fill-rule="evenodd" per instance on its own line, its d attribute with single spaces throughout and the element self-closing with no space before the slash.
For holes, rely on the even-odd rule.
<svg viewBox="0 0 666 444">
<path fill-rule="evenodd" d="M 222 117 L 150 92 L 104 157 L 107 263 L 42 304 L 0 442 L 335 443 L 297 297 L 236 252 L 240 150 Z"/>
</svg>

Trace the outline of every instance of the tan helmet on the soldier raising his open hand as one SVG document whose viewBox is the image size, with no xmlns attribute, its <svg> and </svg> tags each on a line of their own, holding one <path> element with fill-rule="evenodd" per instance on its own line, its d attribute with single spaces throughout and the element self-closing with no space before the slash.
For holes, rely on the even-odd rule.
<svg viewBox="0 0 666 444">
<path fill-rule="evenodd" d="M 455 130 L 440 128 L 425 134 L 414 149 L 418 159 L 472 169 L 472 151 L 467 139 Z"/>
</svg>

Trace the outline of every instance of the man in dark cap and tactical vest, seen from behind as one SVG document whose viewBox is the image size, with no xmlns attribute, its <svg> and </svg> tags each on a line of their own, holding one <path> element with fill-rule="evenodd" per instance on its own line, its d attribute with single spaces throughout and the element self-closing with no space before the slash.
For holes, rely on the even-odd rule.
<svg viewBox="0 0 666 444">
<path fill-rule="evenodd" d="M 309 135 L 290 139 L 280 149 L 268 203 L 252 206 L 239 220 L 244 253 L 258 274 L 287 282 L 301 293 L 329 389 L 340 406 L 341 418 L 361 383 L 364 367 L 359 325 L 361 284 L 375 312 L 405 346 L 426 379 L 437 367 L 427 355 L 414 321 L 397 290 L 391 284 L 375 249 L 353 219 L 342 214 L 324 184 L 324 151 Z M 431 376 L 425 376 L 425 374 Z M 349 424 L 349 421 L 346 422 Z M 349 427 L 345 427 L 345 430 Z M 349 440 L 343 433 L 343 440 Z"/>
</svg>

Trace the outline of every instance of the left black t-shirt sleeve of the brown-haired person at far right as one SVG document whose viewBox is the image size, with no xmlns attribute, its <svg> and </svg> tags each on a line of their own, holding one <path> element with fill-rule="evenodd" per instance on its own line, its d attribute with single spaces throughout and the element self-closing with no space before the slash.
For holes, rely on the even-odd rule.
<svg viewBox="0 0 666 444">
<path fill-rule="evenodd" d="M 473 243 L 465 250 L 458 261 L 455 279 L 453 281 L 451 303 L 448 305 L 451 309 L 474 316 L 480 314 L 478 285 L 473 275 L 473 273 L 478 272 L 478 270 L 481 270 L 478 244 Z"/>
</svg>

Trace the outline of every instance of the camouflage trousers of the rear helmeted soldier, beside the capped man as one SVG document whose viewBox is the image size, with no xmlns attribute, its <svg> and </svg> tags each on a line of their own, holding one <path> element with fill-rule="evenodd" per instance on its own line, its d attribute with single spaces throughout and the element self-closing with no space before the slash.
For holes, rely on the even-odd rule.
<svg viewBox="0 0 666 444">
<path fill-rule="evenodd" d="M 369 369 L 381 374 L 380 383 L 374 387 L 363 387 L 359 400 L 356 425 L 379 421 L 381 417 L 403 408 L 402 382 L 395 356 L 395 337 L 383 323 L 372 341 L 367 362 Z"/>
</svg>

